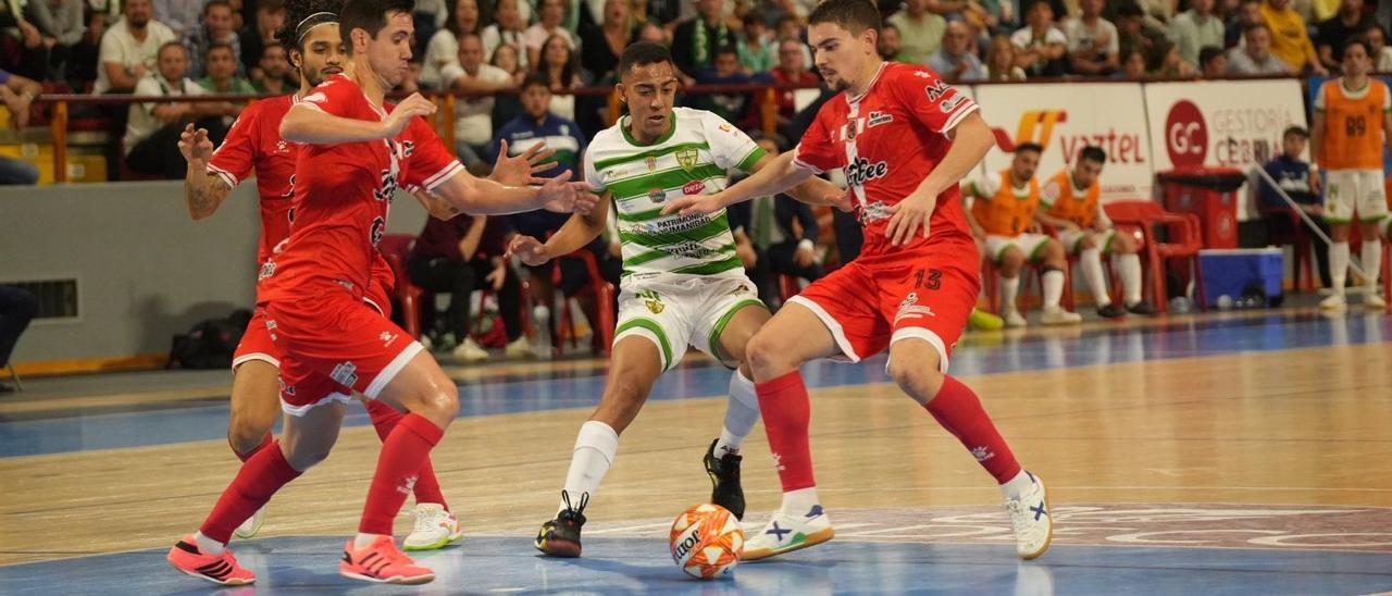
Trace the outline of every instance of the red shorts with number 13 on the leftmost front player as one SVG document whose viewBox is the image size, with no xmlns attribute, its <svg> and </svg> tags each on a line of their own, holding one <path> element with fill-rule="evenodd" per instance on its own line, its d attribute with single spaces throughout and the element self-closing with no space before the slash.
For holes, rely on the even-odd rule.
<svg viewBox="0 0 1392 596">
<path fill-rule="evenodd" d="M 280 348 L 280 401 L 285 414 L 369 398 L 391 382 L 416 352 L 411 334 L 347 291 L 324 290 L 315 298 L 263 304 L 271 341 Z"/>
</svg>

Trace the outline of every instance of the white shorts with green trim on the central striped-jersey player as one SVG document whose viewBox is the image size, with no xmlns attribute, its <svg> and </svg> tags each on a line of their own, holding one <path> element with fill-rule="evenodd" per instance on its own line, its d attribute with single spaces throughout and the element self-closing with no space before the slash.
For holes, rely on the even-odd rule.
<svg viewBox="0 0 1392 596">
<path fill-rule="evenodd" d="M 614 344 L 628 336 L 646 337 L 661 351 L 663 370 L 682 361 L 688 344 L 735 368 L 739 362 L 721 354 L 720 334 L 745 306 L 764 308 L 764 304 L 753 281 L 743 276 L 692 277 L 671 284 L 643 281 L 619 292 Z"/>
</svg>

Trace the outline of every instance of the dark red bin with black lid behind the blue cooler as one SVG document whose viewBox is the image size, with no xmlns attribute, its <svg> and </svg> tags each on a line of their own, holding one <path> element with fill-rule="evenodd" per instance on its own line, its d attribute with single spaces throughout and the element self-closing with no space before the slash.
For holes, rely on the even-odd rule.
<svg viewBox="0 0 1392 596">
<path fill-rule="evenodd" d="M 1204 248 L 1237 248 L 1237 188 L 1247 182 L 1242 170 L 1192 167 L 1155 177 L 1165 194 L 1165 210 L 1199 216 Z"/>
</svg>

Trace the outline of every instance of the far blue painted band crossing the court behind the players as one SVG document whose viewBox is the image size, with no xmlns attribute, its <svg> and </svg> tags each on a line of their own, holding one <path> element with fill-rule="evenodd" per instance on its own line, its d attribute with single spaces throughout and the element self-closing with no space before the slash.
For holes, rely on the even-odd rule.
<svg viewBox="0 0 1392 596">
<path fill-rule="evenodd" d="M 1045 370 L 1107 363 L 1212 356 L 1236 352 L 1271 352 L 1345 344 L 1377 344 L 1392 340 L 1392 317 L 1382 315 L 1324 317 L 1278 315 L 1264 317 L 1197 320 L 1160 327 L 1094 329 L 1077 337 L 1057 334 L 1023 340 L 999 336 L 969 337 L 952 354 L 952 375 L 972 376 L 1012 370 Z M 859 365 L 814 362 L 803 369 L 809 387 L 841 387 L 883 383 L 885 356 Z M 683 400 L 720 395 L 728 390 L 729 372 L 720 366 L 682 366 L 663 375 L 650 400 Z M 539 412 L 583 408 L 599 402 L 604 376 L 484 382 L 461 389 L 459 415 Z M 352 407 L 348 426 L 367 425 L 367 415 Z M 6 419 L 0 416 L 0 458 L 88 450 L 214 440 L 226 436 L 227 405 L 109 412 L 54 419 Z"/>
</svg>

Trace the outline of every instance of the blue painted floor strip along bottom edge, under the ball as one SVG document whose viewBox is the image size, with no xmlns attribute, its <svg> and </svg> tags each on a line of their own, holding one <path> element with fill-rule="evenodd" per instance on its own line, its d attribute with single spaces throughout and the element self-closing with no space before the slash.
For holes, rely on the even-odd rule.
<svg viewBox="0 0 1392 596">
<path fill-rule="evenodd" d="M 258 574 L 255 593 L 381 593 L 338 575 L 342 539 L 284 536 L 234 544 Z M 175 572 L 164 549 L 0 567 L 0 593 L 207 593 L 213 585 Z M 686 578 L 664 540 L 585 540 L 585 557 L 539 557 L 523 536 L 469 536 L 418 554 L 433 583 L 393 593 L 589 592 L 672 595 L 1315 595 L 1392 586 L 1392 554 L 1054 546 L 1022 563 L 1013 546 L 832 540 L 775 560 L 745 563 L 731 578 Z M 139 572 L 131 572 L 139 570 Z M 117 579 L 118 578 L 118 579 Z M 117 583 L 118 582 L 118 583 Z M 251 593 L 251 589 L 245 590 Z"/>
</svg>

